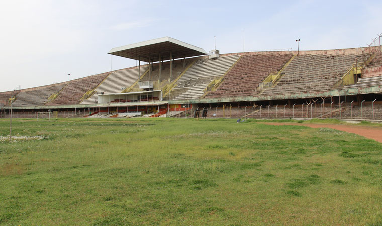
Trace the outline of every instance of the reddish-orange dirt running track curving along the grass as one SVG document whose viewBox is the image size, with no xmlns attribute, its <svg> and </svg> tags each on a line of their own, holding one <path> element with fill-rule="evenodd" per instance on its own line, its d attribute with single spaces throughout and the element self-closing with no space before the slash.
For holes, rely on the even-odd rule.
<svg viewBox="0 0 382 226">
<path fill-rule="evenodd" d="M 266 122 L 265 124 L 270 125 L 297 125 L 297 126 L 307 126 L 312 128 L 332 128 L 336 130 L 341 130 L 349 133 L 358 134 L 366 138 L 374 139 L 376 141 L 382 142 L 382 128 L 378 127 L 368 127 L 368 126 L 356 126 L 356 125 L 341 125 L 341 124 L 313 124 L 313 123 L 271 123 Z"/>
</svg>

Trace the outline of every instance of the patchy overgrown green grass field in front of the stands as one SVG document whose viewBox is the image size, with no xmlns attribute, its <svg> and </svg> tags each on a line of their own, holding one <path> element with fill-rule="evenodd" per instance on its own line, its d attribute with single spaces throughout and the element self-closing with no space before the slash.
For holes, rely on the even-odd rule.
<svg viewBox="0 0 382 226">
<path fill-rule="evenodd" d="M 9 121 L 0 120 L 0 135 Z M 382 225 L 382 145 L 235 119 L 14 120 L 0 225 Z"/>
</svg>

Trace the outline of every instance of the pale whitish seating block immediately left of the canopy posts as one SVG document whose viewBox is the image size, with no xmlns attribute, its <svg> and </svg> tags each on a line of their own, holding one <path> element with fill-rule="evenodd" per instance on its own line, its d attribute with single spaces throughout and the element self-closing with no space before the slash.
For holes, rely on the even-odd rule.
<svg viewBox="0 0 382 226">
<path fill-rule="evenodd" d="M 129 88 L 138 80 L 147 70 L 148 65 L 141 66 L 141 74 L 138 67 L 126 68 L 117 71 L 113 71 L 105 80 L 96 88 L 94 94 L 81 102 L 81 104 L 96 104 L 98 101 L 98 95 L 101 92 L 107 93 L 119 93 L 125 88 Z"/>
</svg>

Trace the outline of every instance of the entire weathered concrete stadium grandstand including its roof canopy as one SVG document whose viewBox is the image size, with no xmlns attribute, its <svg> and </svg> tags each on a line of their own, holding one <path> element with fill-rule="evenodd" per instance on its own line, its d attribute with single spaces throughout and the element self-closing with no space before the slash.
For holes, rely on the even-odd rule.
<svg viewBox="0 0 382 226">
<path fill-rule="evenodd" d="M 20 118 L 49 111 L 56 117 L 382 120 L 381 46 L 208 54 L 164 37 L 109 54 L 139 65 L 1 92 L 0 117 L 10 117 L 12 108 Z"/>
</svg>

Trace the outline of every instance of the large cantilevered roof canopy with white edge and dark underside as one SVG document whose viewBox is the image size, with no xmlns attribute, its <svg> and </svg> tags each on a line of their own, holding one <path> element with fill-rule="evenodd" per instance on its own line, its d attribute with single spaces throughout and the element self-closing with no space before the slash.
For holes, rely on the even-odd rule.
<svg viewBox="0 0 382 226">
<path fill-rule="evenodd" d="M 162 60 L 169 60 L 170 58 L 193 57 L 206 55 L 207 53 L 202 48 L 170 37 L 163 37 L 116 47 L 111 49 L 108 54 L 145 62 L 157 62 L 159 61 L 159 55 Z"/>
</svg>

